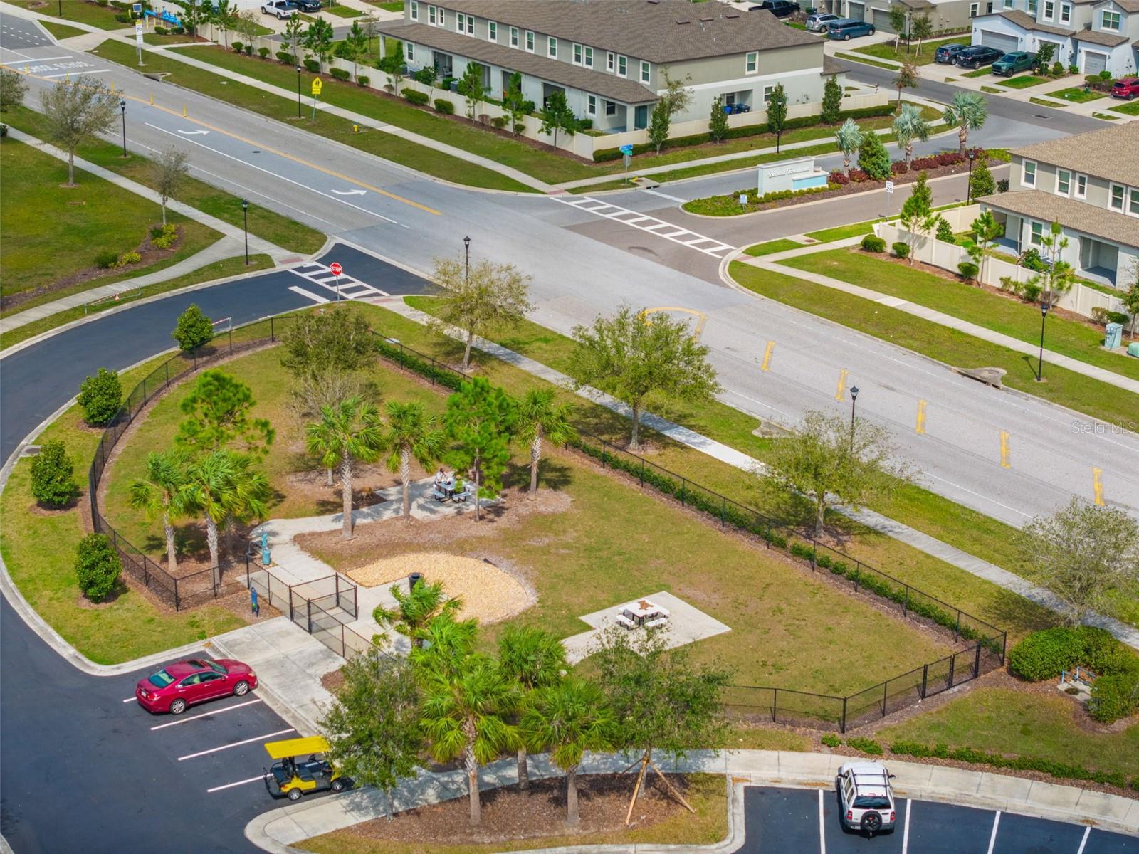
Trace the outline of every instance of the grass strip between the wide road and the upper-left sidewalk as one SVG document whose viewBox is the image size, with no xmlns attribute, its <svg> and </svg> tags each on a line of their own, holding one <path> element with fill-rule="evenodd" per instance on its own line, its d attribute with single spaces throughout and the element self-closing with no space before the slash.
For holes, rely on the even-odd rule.
<svg viewBox="0 0 1139 854">
<path fill-rule="evenodd" d="M 14 128 L 39 139 L 43 139 L 47 133 L 44 116 L 26 107 L 10 108 L 7 113 L 7 121 Z M 145 187 L 154 189 L 156 186 L 153 161 L 138 151 L 130 151 L 126 159 L 123 159 L 121 147 L 113 142 L 90 140 L 79 147 L 76 155 Z M 202 213 L 216 216 L 235 228 L 244 227 L 241 199 L 205 181 L 187 175 L 179 184 L 174 198 Z M 269 240 L 289 252 L 309 255 L 325 245 L 325 235 L 321 231 L 303 225 L 296 220 L 270 211 L 268 207 L 251 203 L 248 217 L 251 235 Z"/>
</svg>

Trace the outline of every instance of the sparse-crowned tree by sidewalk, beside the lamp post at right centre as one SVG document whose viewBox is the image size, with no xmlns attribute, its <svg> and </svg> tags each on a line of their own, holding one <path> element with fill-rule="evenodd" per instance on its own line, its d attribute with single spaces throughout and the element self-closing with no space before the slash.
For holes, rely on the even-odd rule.
<svg viewBox="0 0 1139 854">
<path fill-rule="evenodd" d="M 831 501 L 855 510 L 909 479 L 909 467 L 892 462 L 890 433 L 865 419 L 808 412 L 801 429 L 772 444 L 762 477 L 806 495 L 814 504 L 814 536 L 822 533 Z"/>
</svg>

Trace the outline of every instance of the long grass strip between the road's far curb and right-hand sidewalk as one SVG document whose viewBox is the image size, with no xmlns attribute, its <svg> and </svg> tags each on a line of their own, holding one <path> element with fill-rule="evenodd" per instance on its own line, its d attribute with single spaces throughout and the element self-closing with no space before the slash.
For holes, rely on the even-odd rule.
<svg viewBox="0 0 1139 854">
<path fill-rule="evenodd" d="M 956 329 L 916 318 L 898 309 L 845 294 L 804 279 L 734 263 L 731 276 L 751 290 L 834 320 L 947 364 L 1003 368 L 1006 386 L 1085 412 L 1113 424 L 1134 419 L 1136 396 L 1082 373 L 1044 367 L 1047 383 L 1035 381 L 1035 360 Z M 1005 567 L 1015 570 L 1016 567 Z"/>
</svg>

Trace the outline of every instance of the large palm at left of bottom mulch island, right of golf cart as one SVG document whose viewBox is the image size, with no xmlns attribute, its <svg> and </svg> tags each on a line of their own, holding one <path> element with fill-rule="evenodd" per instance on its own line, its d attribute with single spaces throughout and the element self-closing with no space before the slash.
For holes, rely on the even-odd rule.
<svg viewBox="0 0 1139 854">
<path fill-rule="evenodd" d="M 470 824 L 482 820 L 478 767 L 517 747 L 518 728 L 507 723 L 517 692 L 493 658 L 474 654 L 452 672 L 428 663 L 420 671 L 424 690 L 420 723 L 436 762 L 462 758 L 467 772 Z"/>
</svg>

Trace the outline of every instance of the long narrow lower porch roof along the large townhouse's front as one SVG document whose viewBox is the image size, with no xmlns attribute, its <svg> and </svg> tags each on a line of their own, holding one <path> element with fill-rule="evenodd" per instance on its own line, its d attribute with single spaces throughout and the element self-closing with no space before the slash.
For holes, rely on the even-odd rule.
<svg viewBox="0 0 1139 854">
<path fill-rule="evenodd" d="M 507 48 L 494 42 L 476 39 L 473 35 L 461 35 L 437 26 L 413 23 L 390 23 L 379 25 L 384 35 L 393 39 L 426 44 L 448 54 L 469 57 L 477 63 L 497 65 L 510 71 L 522 72 L 533 77 L 541 77 L 551 83 L 559 83 L 572 89 L 600 95 L 622 104 L 645 104 L 656 100 L 656 92 L 634 80 L 618 77 L 615 74 L 582 68 L 571 63 L 548 59 L 525 50 Z"/>
</svg>

